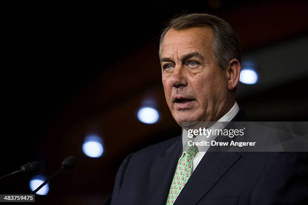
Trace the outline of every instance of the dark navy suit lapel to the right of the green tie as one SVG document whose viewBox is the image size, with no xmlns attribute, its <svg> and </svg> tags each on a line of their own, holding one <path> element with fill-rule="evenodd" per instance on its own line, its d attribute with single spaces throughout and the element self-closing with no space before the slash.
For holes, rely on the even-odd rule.
<svg viewBox="0 0 308 205">
<path fill-rule="evenodd" d="M 207 151 L 174 205 L 197 204 L 221 176 L 241 157 L 236 152 Z"/>
</svg>

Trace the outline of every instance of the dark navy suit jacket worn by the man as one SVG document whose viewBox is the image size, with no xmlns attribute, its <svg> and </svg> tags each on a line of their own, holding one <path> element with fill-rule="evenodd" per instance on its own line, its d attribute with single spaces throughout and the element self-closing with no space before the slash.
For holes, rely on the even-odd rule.
<svg viewBox="0 0 308 205">
<path fill-rule="evenodd" d="M 105 204 L 166 204 L 182 146 L 179 136 L 128 155 Z M 208 151 L 174 204 L 308 204 L 307 163 L 306 152 Z"/>
</svg>

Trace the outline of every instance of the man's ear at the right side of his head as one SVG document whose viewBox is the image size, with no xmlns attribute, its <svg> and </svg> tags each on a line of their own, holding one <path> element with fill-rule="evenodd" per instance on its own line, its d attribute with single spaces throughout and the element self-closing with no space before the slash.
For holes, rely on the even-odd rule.
<svg viewBox="0 0 308 205">
<path fill-rule="evenodd" d="M 229 61 L 228 66 L 226 67 L 226 76 L 228 82 L 228 89 L 235 89 L 240 81 L 241 73 L 241 63 L 238 59 L 232 59 Z"/>
</svg>

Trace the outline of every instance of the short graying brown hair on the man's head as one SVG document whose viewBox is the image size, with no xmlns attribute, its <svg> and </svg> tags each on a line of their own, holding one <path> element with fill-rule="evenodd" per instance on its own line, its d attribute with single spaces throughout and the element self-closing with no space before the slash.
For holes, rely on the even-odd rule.
<svg viewBox="0 0 308 205">
<path fill-rule="evenodd" d="M 221 69 L 224 70 L 234 58 L 241 62 L 241 46 L 237 33 L 227 22 L 209 14 L 185 14 L 172 19 L 161 34 L 160 57 L 162 42 L 169 29 L 184 30 L 200 26 L 210 27 L 213 31 L 212 50 Z"/>
</svg>

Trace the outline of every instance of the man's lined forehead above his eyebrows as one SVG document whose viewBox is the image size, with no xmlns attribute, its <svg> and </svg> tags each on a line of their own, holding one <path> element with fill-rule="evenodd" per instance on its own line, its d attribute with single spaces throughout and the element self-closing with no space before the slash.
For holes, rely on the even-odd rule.
<svg viewBox="0 0 308 205">
<path fill-rule="evenodd" d="M 194 27 L 184 30 L 170 29 L 161 47 L 162 56 L 178 55 L 186 52 L 206 52 L 212 48 L 213 31 L 210 27 Z"/>
</svg>

